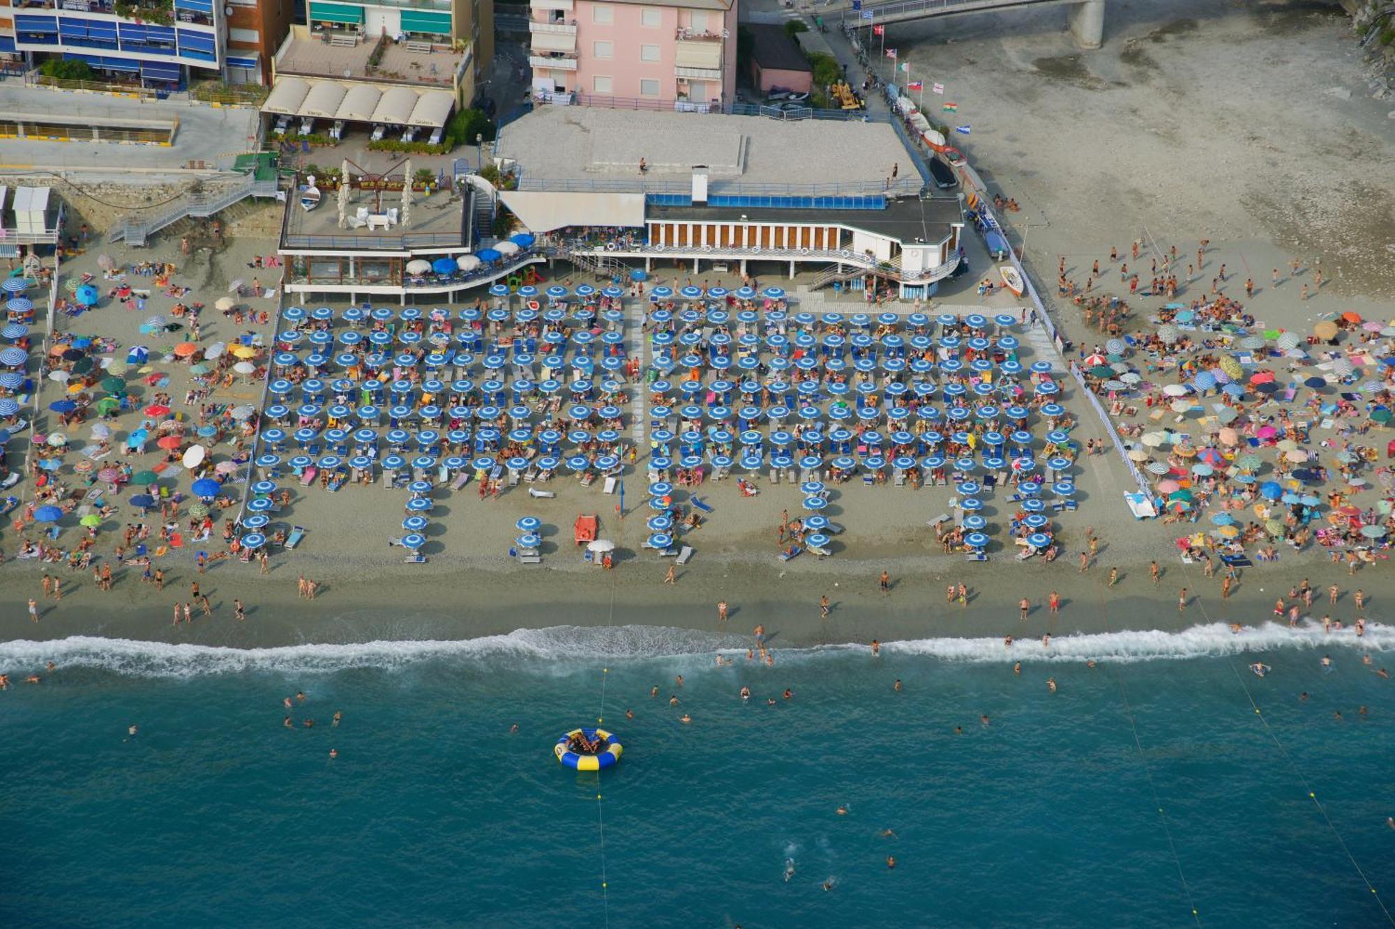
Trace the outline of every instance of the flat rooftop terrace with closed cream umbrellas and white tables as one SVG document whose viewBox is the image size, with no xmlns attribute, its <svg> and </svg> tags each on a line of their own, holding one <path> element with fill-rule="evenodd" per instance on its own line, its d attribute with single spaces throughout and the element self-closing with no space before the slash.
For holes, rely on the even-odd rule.
<svg viewBox="0 0 1395 929">
<path fill-rule="evenodd" d="M 347 212 L 353 216 L 360 206 L 368 208 L 368 212 L 378 212 L 379 204 L 384 212 L 396 209 L 400 218 L 402 191 L 382 191 L 379 201 L 377 191 L 354 190 L 349 194 Z M 467 241 L 465 204 L 459 195 L 446 190 L 430 197 L 417 191 L 412 195 L 412 223 L 407 226 L 399 222 L 388 229 L 370 230 L 367 226 L 340 229 L 338 191 L 324 191 L 319 206 L 306 211 L 300 205 L 297 190 L 286 198 L 286 237 L 282 244 L 287 248 L 347 250 L 423 248 L 431 244 L 459 247 Z"/>
</svg>

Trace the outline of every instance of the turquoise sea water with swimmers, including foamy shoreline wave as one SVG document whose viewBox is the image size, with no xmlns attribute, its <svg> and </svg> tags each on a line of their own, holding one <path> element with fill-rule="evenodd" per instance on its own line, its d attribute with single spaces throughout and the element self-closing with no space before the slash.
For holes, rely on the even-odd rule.
<svg viewBox="0 0 1395 929">
<path fill-rule="evenodd" d="M 1223 626 L 880 657 L 776 640 L 771 668 L 741 650 L 718 668 L 723 643 L 664 629 L 6 643 L 0 670 L 45 679 L 0 693 L 0 918 L 1387 925 L 1395 681 L 1373 668 L 1395 670 L 1392 633 L 1258 632 L 1264 679 Z M 598 713 L 621 764 L 559 767 L 559 732 Z"/>
</svg>

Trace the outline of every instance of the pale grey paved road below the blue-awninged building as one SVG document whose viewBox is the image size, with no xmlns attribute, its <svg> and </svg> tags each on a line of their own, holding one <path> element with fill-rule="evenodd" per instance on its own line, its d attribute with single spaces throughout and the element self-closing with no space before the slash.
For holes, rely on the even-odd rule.
<svg viewBox="0 0 1395 929">
<path fill-rule="evenodd" d="M 0 162 L 20 167 L 106 167 L 119 172 L 188 167 L 191 160 L 227 169 L 239 152 L 248 151 L 257 131 L 257 113 L 250 109 L 149 100 L 141 102 L 102 93 L 71 93 L 0 81 L 0 110 L 15 113 L 59 113 L 105 119 L 179 120 L 170 148 L 120 145 L 112 142 L 29 142 L 6 139 Z"/>
</svg>

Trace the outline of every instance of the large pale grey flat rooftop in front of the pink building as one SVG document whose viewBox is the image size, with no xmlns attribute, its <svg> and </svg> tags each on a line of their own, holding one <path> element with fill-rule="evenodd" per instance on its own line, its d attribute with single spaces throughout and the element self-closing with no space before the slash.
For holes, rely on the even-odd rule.
<svg viewBox="0 0 1395 929">
<path fill-rule="evenodd" d="M 504 128 L 498 153 L 523 166 L 525 188 L 561 180 L 632 181 L 635 190 L 644 181 L 688 184 L 693 165 L 706 165 L 713 181 L 877 190 L 900 165 L 898 177 L 921 186 L 887 123 L 540 105 Z"/>
</svg>

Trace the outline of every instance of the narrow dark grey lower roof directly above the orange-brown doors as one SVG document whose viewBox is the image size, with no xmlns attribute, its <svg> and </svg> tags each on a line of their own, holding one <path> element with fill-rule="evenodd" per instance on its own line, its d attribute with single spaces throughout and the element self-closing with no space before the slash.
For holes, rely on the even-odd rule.
<svg viewBox="0 0 1395 929">
<path fill-rule="evenodd" d="M 735 222 L 753 223 L 840 223 L 898 241 L 923 239 L 937 243 L 949 233 L 950 223 L 963 222 L 958 199 L 919 199 L 907 197 L 886 209 L 762 209 L 759 206 L 650 206 L 649 220 Z"/>
</svg>

